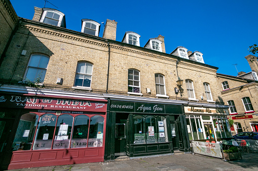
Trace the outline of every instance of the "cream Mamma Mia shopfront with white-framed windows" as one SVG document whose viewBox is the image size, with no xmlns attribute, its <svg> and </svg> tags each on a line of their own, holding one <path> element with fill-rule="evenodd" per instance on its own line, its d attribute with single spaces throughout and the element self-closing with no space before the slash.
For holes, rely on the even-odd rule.
<svg viewBox="0 0 258 171">
<path fill-rule="evenodd" d="M 232 137 L 227 109 L 186 106 L 185 112 L 190 140 L 217 141 Z"/>
</svg>

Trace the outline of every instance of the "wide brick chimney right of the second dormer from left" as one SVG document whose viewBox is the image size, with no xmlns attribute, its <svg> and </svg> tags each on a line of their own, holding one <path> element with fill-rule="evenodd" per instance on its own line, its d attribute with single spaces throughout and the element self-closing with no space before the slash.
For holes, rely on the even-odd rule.
<svg viewBox="0 0 258 171">
<path fill-rule="evenodd" d="M 117 24 L 115 20 L 108 20 L 106 19 L 106 25 L 103 32 L 103 38 L 116 40 L 117 36 Z"/>
</svg>

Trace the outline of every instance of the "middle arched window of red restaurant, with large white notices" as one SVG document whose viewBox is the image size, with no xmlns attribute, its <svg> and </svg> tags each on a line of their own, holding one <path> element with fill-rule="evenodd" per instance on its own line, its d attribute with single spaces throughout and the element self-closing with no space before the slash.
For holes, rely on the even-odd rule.
<svg viewBox="0 0 258 171">
<path fill-rule="evenodd" d="M 64 114 L 58 117 L 53 149 L 68 148 L 71 136 L 73 117 Z"/>
</svg>

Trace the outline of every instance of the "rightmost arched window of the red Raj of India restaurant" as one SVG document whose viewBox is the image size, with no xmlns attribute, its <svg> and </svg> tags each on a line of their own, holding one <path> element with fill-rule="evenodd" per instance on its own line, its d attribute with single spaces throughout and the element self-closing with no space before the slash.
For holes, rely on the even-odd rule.
<svg viewBox="0 0 258 171">
<path fill-rule="evenodd" d="M 104 129 L 104 118 L 102 116 L 95 115 L 90 118 L 88 147 L 103 146 L 103 129 Z"/>
</svg>

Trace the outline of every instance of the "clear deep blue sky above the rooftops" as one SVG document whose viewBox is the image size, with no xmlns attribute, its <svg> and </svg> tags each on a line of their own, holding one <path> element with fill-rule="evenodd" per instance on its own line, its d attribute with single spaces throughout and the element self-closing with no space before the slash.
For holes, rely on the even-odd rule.
<svg viewBox="0 0 258 171">
<path fill-rule="evenodd" d="M 44 8 L 45 1 L 10 0 L 19 17 L 32 19 L 33 7 Z M 218 73 L 237 75 L 251 71 L 245 56 L 248 47 L 258 44 L 257 0 L 245 1 L 57 1 L 58 7 L 46 3 L 65 14 L 66 28 L 81 31 L 81 19 L 98 23 L 115 20 L 117 41 L 126 31 L 134 31 L 143 47 L 150 38 L 165 37 L 166 53 L 183 46 L 199 51 L 204 62 L 218 67 Z M 101 24 L 100 36 L 102 37 Z M 257 56 L 257 54 L 255 55 Z"/>
</svg>

